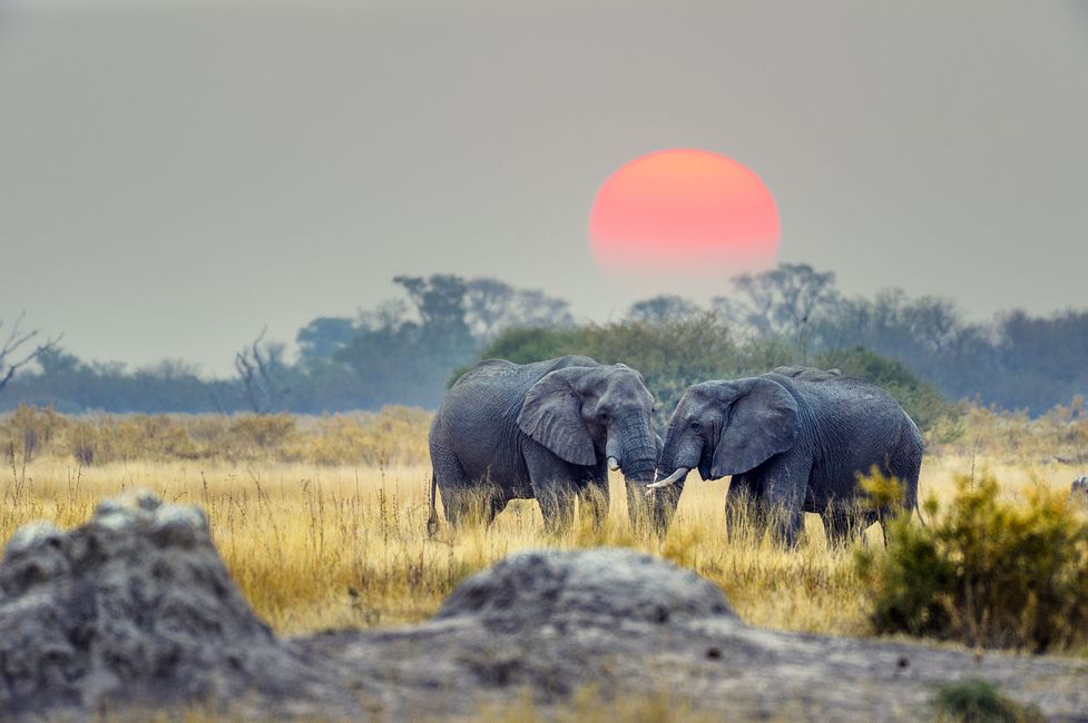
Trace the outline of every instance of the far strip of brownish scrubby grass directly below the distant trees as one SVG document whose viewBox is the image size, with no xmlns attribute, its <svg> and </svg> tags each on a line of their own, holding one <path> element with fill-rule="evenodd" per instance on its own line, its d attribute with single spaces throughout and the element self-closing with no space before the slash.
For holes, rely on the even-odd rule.
<svg viewBox="0 0 1088 723">
<path fill-rule="evenodd" d="M 667 409 L 664 410 L 667 414 Z M 431 414 L 390 406 L 378 413 L 277 415 L 85 415 L 19 407 L 0 415 L 0 449 L 20 458 L 68 457 L 84 466 L 133 460 L 284 462 L 321 466 L 425 464 Z M 951 422 L 949 424 L 952 424 Z M 942 424 L 929 452 L 1036 467 L 1088 465 L 1088 407 L 1080 397 L 1031 419 L 966 406 L 953 442 Z"/>
</svg>

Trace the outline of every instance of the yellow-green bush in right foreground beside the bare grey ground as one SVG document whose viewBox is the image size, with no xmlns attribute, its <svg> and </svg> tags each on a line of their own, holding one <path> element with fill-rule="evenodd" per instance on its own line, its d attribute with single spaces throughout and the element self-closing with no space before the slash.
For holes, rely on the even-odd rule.
<svg viewBox="0 0 1088 723">
<path fill-rule="evenodd" d="M 998 483 L 957 479 L 930 525 L 889 524 L 884 552 L 859 551 L 878 633 L 1042 652 L 1088 643 L 1088 523 L 1068 493 L 1032 488 L 1017 503 Z"/>
</svg>

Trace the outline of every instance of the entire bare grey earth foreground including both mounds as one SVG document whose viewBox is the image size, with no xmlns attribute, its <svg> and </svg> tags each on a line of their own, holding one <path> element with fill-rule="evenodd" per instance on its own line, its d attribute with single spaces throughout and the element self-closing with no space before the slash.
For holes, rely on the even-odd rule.
<svg viewBox="0 0 1088 723">
<path fill-rule="evenodd" d="M 709 582 L 631 551 L 520 553 L 421 625 L 291 641 L 238 594 L 204 514 L 146 494 L 70 533 L 24 527 L 0 563 L 0 719 L 177 703 L 451 719 L 527 699 L 553 711 L 594 690 L 731 720 L 913 721 L 964 675 L 1086 720 L 1088 661 L 751 628 Z"/>
</svg>

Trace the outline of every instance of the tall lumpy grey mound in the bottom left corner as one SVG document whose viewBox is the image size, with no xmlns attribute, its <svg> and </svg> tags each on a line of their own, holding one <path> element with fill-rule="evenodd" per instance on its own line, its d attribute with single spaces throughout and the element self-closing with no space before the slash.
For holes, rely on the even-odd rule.
<svg viewBox="0 0 1088 723">
<path fill-rule="evenodd" d="M 148 493 L 101 503 L 63 533 L 19 529 L 0 563 L 0 711 L 219 705 L 255 694 L 288 710 L 343 697 L 254 615 L 204 512 Z M 0 716 L 2 717 L 2 716 Z"/>
</svg>

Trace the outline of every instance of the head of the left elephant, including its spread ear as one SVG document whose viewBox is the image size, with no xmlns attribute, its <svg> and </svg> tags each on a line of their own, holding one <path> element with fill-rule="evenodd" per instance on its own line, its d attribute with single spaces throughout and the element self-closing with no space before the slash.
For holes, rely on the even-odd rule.
<svg viewBox="0 0 1088 723">
<path fill-rule="evenodd" d="M 638 372 L 623 364 L 567 367 L 545 375 L 526 395 L 518 426 L 556 455 L 648 484 L 661 448 L 650 416 L 654 397 Z"/>
</svg>

